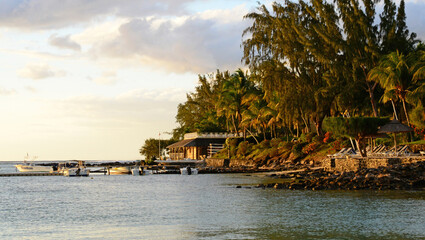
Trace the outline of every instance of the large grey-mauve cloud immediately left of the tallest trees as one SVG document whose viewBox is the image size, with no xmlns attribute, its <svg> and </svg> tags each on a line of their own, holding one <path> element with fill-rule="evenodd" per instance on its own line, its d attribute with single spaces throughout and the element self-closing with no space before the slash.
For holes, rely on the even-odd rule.
<svg viewBox="0 0 425 240">
<path fill-rule="evenodd" d="M 233 14 L 230 14 L 233 12 Z M 175 19 L 131 19 L 119 28 L 119 35 L 95 44 L 96 57 L 135 58 L 145 65 L 170 72 L 205 73 L 240 66 L 242 20 L 246 9 L 208 11 Z M 235 17 L 238 16 L 238 17 Z"/>
</svg>

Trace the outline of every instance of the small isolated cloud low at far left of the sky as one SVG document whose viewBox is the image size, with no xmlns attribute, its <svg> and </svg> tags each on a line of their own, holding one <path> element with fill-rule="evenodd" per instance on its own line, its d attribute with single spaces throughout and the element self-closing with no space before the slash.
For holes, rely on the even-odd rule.
<svg viewBox="0 0 425 240">
<path fill-rule="evenodd" d="M 51 78 L 51 77 L 63 77 L 65 75 L 66 75 L 65 71 L 54 70 L 45 63 L 29 64 L 25 68 L 18 71 L 18 76 L 23 78 L 30 78 L 34 80 Z"/>
</svg>

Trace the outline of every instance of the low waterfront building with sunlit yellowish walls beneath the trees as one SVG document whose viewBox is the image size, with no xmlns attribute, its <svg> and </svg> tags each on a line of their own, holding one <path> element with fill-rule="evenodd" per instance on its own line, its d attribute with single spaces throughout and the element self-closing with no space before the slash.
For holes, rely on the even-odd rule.
<svg viewBox="0 0 425 240">
<path fill-rule="evenodd" d="M 226 139 L 234 137 L 229 133 L 187 133 L 184 139 L 167 146 L 172 160 L 202 160 L 223 149 Z"/>
</svg>

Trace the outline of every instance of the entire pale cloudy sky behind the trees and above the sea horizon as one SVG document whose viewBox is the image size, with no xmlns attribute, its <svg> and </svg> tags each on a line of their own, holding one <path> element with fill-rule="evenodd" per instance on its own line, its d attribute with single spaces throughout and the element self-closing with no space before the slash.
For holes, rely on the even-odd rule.
<svg viewBox="0 0 425 240">
<path fill-rule="evenodd" d="M 269 4 L 271 1 L 261 1 Z M 198 75 L 241 64 L 257 0 L 0 0 L 0 161 L 136 160 Z M 425 0 L 406 1 L 425 39 Z"/>
</svg>

